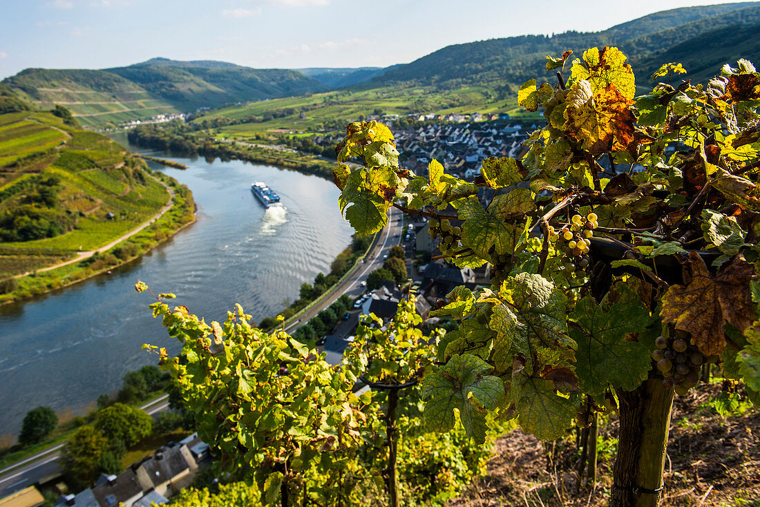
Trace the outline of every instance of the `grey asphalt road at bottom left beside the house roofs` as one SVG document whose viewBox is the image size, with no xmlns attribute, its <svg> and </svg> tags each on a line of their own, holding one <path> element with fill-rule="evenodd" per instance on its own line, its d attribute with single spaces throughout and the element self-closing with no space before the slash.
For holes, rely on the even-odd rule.
<svg viewBox="0 0 760 507">
<path fill-rule="evenodd" d="M 144 404 L 141 409 L 154 415 L 169 408 L 169 395 L 163 395 Z M 65 443 L 52 445 L 36 455 L 17 461 L 0 470 L 0 499 L 23 490 L 33 483 L 47 480 L 61 473 L 59 458 Z"/>
</svg>

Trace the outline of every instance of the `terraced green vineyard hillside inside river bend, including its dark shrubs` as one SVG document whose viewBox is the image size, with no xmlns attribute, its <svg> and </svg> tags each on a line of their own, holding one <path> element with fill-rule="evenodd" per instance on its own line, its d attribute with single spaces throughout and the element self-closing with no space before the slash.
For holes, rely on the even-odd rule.
<svg viewBox="0 0 760 507">
<path fill-rule="evenodd" d="M 0 280 L 106 245 L 169 198 L 142 160 L 58 113 L 0 115 Z"/>
</svg>

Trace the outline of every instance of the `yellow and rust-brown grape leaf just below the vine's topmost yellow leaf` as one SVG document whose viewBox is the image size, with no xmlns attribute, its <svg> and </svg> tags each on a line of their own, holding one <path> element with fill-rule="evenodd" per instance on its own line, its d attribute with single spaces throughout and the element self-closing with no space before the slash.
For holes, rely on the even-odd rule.
<svg viewBox="0 0 760 507">
<path fill-rule="evenodd" d="M 594 93 L 589 81 L 577 81 L 568 95 L 565 132 L 591 154 L 624 150 L 634 140 L 633 103 L 615 84 Z"/>
</svg>

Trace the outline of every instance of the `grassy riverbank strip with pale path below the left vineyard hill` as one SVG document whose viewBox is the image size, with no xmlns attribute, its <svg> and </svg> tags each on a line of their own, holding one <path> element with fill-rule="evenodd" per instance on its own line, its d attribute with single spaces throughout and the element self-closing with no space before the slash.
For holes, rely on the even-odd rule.
<svg viewBox="0 0 760 507">
<path fill-rule="evenodd" d="M 169 208 L 122 236 L 122 241 L 115 245 L 109 243 L 101 249 L 82 252 L 85 255 L 78 255 L 58 265 L 11 279 L 16 287 L 11 286 L 12 290 L 0 294 L 0 305 L 41 296 L 108 273 L 150 252 L 194 223 L 195 201 L 192 192 L 163 173 L 153 173 L 151 176 L 169 189 Z"/>
</svg>

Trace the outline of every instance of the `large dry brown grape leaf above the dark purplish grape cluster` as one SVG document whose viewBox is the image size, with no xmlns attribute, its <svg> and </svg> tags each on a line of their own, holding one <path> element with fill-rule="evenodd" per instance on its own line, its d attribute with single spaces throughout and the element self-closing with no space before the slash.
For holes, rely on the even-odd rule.
<svg viewBox="0 0 760 507">
<path fill-rule="evenodd" d="M 676 329 L 692 334 L 692 343 L 705 356 L 726 347 L 724 322 L 744 332 L 755 320 L 749 282 L 755 270 L 742 255 L 724 265 L 713 277 L 697 252 L 689 253 L 691 273 L 686 285 L 673 285 L 663 295 L 660 315 Z"/>
</svg>

